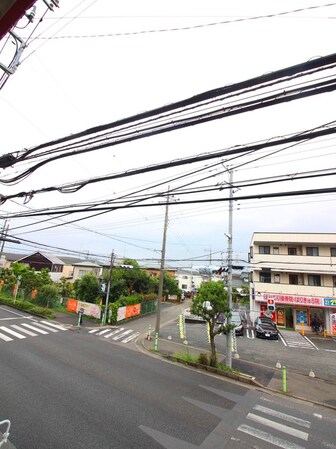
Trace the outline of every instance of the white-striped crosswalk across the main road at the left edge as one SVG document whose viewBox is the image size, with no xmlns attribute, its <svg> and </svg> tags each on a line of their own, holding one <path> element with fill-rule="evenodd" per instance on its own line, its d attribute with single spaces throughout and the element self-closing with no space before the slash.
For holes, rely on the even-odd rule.
<svg viewBox="0 0 336 449">
<path fill-rule="evenodd" d="M 38 335 L 47 335 L 66 330 L 66 327 L 47 320 L 10 324 L 0 326 L 0 342 L 7 343 L 15 339 L 24 340 L 27 337 L 37 337 Z"/>
</svg>

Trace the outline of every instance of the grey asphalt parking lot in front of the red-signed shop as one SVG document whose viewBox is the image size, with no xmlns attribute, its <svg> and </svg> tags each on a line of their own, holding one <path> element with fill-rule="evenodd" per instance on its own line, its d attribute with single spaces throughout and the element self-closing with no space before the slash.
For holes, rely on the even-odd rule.
<svg viewBox="0 0 336 449">
<path fill-rule="evenodd" d="M 210 350 L 205 323 L 185 323 L 185 336 L 181 339 L 176 320 L 161 329 L 160 338 L 181 343 L 181 352 L 187 351 L 188 346 Z M 225 358 L 226 336 L 216 336 L 215 342 L 221 361 Z M 278 340 L 262 339 L 255 338 L 253 327 L 247 327 L 244 336 L 236 337 L 236 345 L 239 360 L 251 366 L 274 369 L 280 363 L 293 372 L 306 375 L 313 372 L 316 377 L 336 382 L 336 339 L 315 334 L 303 337 L 297 332 L 281 329 Z"/>
</svg>

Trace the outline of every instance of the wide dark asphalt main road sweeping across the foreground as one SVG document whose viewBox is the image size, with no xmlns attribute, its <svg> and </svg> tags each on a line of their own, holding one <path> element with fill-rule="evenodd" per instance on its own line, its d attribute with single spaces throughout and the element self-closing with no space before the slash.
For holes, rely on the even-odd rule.
<svg viewBox="0 0 336 449">
<path fill-rule="evenodd" d="M 336 447 L 330 410 L 150 357 L 87 329 L 47 331 L 22 315 L 0 307 L 0 332 L 14 325 L 20 334 L 28 324 L 36 334 L 0 340 L 0 420 L 10 419 L 17 449 Z"/>
</svg>

